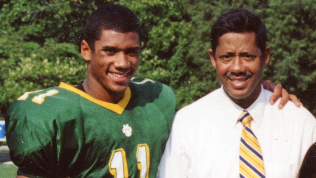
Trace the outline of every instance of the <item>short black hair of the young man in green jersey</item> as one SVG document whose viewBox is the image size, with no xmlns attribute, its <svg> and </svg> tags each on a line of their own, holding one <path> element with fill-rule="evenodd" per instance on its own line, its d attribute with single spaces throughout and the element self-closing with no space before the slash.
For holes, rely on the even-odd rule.
<svg viewBox="0 0 316 178">
<path fill-rule="evenodd" d="M 87 41 L 92 51 L 94 51 L 94 42 L 99 40 L 103 30 L 121 33 L 136 32 L 141 35 L 137 16 L 129 8 L 117 4 L 102 6 L 88 17 L 83 39 Z"/>
</svg>

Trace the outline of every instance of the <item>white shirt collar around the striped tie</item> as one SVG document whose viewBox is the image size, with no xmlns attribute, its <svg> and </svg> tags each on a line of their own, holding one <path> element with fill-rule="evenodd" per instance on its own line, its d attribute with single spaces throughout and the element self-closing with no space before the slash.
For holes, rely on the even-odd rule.
<svg viewBox="0 0 316 178">
<path fill-rule="evenodd" d="M 222 97 L 223 102 L 221 103 L 224 104 L 223 107 L 227 108 L 226 115 L 229 120 L 229 122 L 227 123 L 229 128 L 235 127 L 235 125 L 238 123 L 238 118 L 241 112 L 244 110 L 247 110 L 249 112 L 249 114 L 251 115 L 253 119 L 253 122 L 255 122 L 255 124 L 257 124 L 258 127 L 260 127 L 262 123 L 264 108 L 265 108 L 266 103 L 268 102 L 265 99 L 265 93 L 262 86 L 261 86 L 261 92 L 258 98 L 256 99 L 256 101 L 246 109 L 243 109 L 242 107 L 234 103 L 234 101 L 232 101 L 228 97 L 228 95 L 225 93 L 223 86 L 221 87 L 220 90 L 222 91 L 222 96 L 223 96 Z"/>
</svg>

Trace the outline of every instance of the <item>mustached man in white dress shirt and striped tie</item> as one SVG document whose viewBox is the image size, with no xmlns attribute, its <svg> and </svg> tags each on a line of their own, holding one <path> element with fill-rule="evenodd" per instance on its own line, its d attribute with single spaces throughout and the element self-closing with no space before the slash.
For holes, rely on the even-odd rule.
<svg viewBox="0 0 316 178">
<path fill-rule="evenodd" d="M 269 104 L 272 93 L 260 82 L 270 54 L 266 38 L 253 12 L 237 8 L 218 17 L 209 53 L 222 87 L 178 111 L 157 177 L 296 177 L 316 140 L 316 120 L 292 102 L 282 110 Z M 243 111 L 248 126 L 239 121 Z M 243 159 L 244 129 L 260 145 L 261 171 Z"/>
</svg>

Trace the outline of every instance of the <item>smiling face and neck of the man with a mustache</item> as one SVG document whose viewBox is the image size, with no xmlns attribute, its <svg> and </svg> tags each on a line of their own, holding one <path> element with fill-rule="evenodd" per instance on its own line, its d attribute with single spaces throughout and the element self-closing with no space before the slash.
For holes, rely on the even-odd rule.
<svg viewBox="0 0 316 178">
<path fill-rule="evenodd" d="M 249 107 L 261 92 L 262 69 L 269 61 L 270 48 L 264 54 L 256 46 L 254 32 L 228 32 L 219 38 L 211 63 L 230 99 L 242 108 Z"/>
</svg>

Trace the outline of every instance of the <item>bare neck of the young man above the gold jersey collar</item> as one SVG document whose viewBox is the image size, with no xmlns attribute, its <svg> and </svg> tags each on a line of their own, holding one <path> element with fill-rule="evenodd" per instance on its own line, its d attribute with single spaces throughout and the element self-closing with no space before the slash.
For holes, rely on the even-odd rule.
<svg viewBox="0 0 316 178">
<path fill-rule="evenodd" d="M 83 81 L 82 86 L 88 95 L 108 103 L 117 104 L 124 97 L 124 92 L 118 93 L 109 91 L 100 85 L 99 82 L 93 82 L 88 78 Z"/>
</svg>

